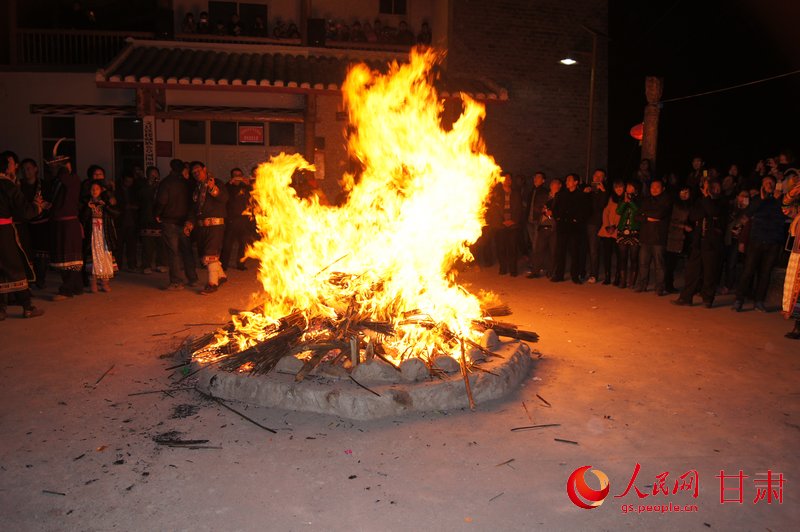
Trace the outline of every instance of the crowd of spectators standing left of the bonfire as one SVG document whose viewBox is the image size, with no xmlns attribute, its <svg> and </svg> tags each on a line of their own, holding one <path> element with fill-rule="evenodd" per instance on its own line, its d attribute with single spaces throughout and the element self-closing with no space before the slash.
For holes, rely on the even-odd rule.
<svg viewBox="0 0 800 532">
<path fill-rule="evenodd" d="M 85 292 L 110 292 L 120 268 L 150 275 L 168 273 L 167 290 L 199 286 L 198 266 L 208 271 L 199 291 L 216 292 L 229 268 L 246 269 L 244 253 L 256 237 L 246 216 L 252 176 L 239 168 L 227 182 L 202 162 L 134 167 L 118 180 L 91 165 L 81 180 L 68 159 L 50 161 L 44 172 L 33 159 L 0 155 L 0 320 L 7 305 L 23 316 L 42 309 L 31 289 L 45 291 L 58 272 L 63 301 Z"/>
</svg>

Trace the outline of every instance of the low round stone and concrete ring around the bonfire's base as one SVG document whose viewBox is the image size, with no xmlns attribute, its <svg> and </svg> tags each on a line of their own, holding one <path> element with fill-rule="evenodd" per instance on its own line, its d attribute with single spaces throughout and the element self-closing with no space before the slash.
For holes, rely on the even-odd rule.
<svg viewBox="0 0 800 532">
<path fill-rule="evenodd" d="M 480 363 L 482 369 L 491 373 L 475 370 L 469 376 L 476 404 L 510 393 L 528 376 L 533 367 L 531 348 L 524 342 L 496 342 L 492 351 L 499 356 Z M 421 374 L 416 377 L 408 375 L 405 368 L 401 373 L 382 361 L 361 364 L 353 372 L 353 377 L 375 392 L 372 393 L 358 386 L 348 378 L 344 368 L 338 366 L 321 366 L 302 382 L 295 382 L 294 373 L 299 367 L 287 367 L 284 363 L 287 359 L 292 364 L 299 363 L 294 357 L 284 357 L 282 364 L 267 375 L 207 368 L 198 374 L 197 389 L 223 400 L 357 420 L 469 406 L 464 379 L 456 369 L 457 363 L 448 368 L 449 371 L 443 379 L 424 377 L 423 380 L 416 380 L 421 378 Z M 417 367 L 419 366 L 427 373 L 427 368 L 421 361 Z M 375 369 L 380 371 L 374 371 Z M 387 382 L 387 379 L 396 382 Z"/>
</svg>

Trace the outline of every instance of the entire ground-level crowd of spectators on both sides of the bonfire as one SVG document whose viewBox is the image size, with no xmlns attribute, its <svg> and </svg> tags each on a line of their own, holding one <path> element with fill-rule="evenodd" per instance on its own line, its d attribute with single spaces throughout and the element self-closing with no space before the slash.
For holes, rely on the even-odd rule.
<svg viewBox="0 0 800 532">
<path fill-rule="evenodd" d="M 110 291 L 120 267 L 168 272 L 163 287 L 180 290 L 199 285 L 201 264 L 204 295 L 225 283 L 229 268 L 245 269 L 245 248 L 256 238 L 243 214 L 254 169 L 245 176 L 234 168 L 227 182 L 202 162 L 179 159 L 163 179 L 156 167 L 134 167 L 113 181 L 92 165 L 81 181 L 69 160 L 50 161 L 47 170 L 43 176 L 32 159 L 0 155 L 0 319 L 7 304 L 40 315 L 29 286 L 44 290 L 53 270 L 61 282 L 52 299 L 60 301 Z M 313 175 L 296 176 L 292 186 L 301 198 L 329 204 Z M 647 162 L 627 180 L 609 180 L 602 169 L 588 182 L 576 174 L 549 181 L 543 172 L 505 174 L 487 199 L 474 255 L 484 267 L 497 260 L 501 275 L 527 269 L 528 278 L 562 282 L 569 274 L 576 284 L 678 294 L 672 302 L 679 306 L 699 295 L 712 308 L 718 295 L 734 294 L 732 310 L 749 300 L 768 312 L 770 278 L 787 262 L 798 213 L 800 171 L 788 151 L 759 161 L 747 176 L 736 165 L 722 176 L 701 157 L 687 175 L 664 179 L 653 178 Z M 790 270 L 796 277 L 797 265 Z M 794 316 L 798 308 L 784 310 Z M 800 321 L 789 335 L 800 338 Z"/>
</svg>

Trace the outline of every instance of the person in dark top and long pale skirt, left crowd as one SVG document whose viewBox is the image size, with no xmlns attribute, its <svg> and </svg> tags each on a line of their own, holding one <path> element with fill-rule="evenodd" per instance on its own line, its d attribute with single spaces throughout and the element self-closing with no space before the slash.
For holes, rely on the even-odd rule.
<svg viewBox="0 0 800 532">
<path fill-rule="evenodd" d="M 97 292 L 99 283 L 100 290 L 110 292 L 110 280 L 117 270 L 110 250 L 116 246 L 114 217 L 119 211 L 103 200 L 103 187 L 100 183 L 92 183 L 89 192 L 89 201 L 81 211 L 84 262 L 86 272 L 91 275 L 89 288 L 92 292 Z"/>
</svg>

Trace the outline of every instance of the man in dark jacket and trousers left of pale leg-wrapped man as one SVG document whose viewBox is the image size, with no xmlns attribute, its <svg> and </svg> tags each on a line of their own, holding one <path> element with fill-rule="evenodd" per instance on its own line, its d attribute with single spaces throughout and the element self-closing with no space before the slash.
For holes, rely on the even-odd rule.
<svg viewBox="0 0 800 532">
<path fill-rule="evenodd" d="M 180 290 L 184 283 L 197 285 L 197 270 L 194 264 L 192 244 L 189 234 L 184 231 L 189 219 L 190 181 L 184 177 L 184 163 L 180 159 L 172 159 L 169 163 L 170 173 L 158 185 L 156 205 L 153 211 L 155 220 L 161 224 L 161 238 L 167 248 L 169 263 L 168 290 Z M 181 259 L 183 273 L 181 274 Z"/>
</svg>

